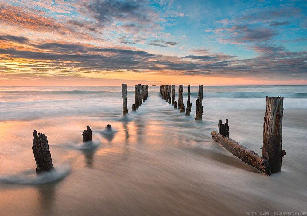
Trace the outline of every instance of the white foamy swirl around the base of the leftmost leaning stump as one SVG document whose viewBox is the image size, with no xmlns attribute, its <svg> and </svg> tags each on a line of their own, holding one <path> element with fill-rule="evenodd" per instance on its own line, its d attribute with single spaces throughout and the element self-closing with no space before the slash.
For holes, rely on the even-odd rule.
<svg viewBox="0 0 307 216">
<path fill-rule="evenodd" d="M 68 165 L 60 165 L 55 167 L 52 171 L 42 172 L 36 174 L 19 174 L 15 176 L 0 177 L 0 181 L 11 184 L 46 184 L 63 179 L 70 172 Z"/>
</svg>

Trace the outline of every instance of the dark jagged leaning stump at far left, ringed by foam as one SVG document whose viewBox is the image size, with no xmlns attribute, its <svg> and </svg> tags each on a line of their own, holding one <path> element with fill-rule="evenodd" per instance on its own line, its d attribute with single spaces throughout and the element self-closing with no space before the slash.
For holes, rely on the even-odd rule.
<svg viewBox="0 0 307 216">
<path fill-rule="evenodd" d="M 33 132 L 33 154 L 37 165 L 36 173 L 49 171 L 53 169 L 51 154 L 49 151 L 48 140 L 45 134 L 40 134 L 36 130 Z"/>
</svg>

